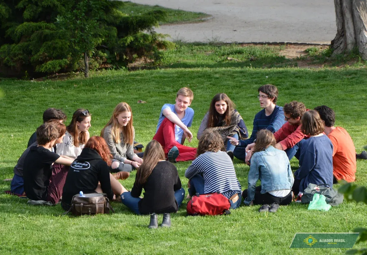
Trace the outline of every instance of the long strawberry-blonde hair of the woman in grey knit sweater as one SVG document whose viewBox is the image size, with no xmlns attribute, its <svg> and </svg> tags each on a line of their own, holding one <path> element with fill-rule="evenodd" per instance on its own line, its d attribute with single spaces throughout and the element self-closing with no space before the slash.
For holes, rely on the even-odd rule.
<svg viewBox="0 0 367 255">
<path fill-rule="evenodd" d="M 111 135 L 113 137 L 113 140 L 115 140 L 115 143 L 121 143 L 121 139 L 120 139 L 121 131 L 120 131 L 119 123 L 117 121 L 117 116 L 123 112 L 131 113 L 131 119 L 129 123 L 127 123 L 126 127 L 122 127 L 122 134 L 124 135 L 124 143 L 132 144 L 134 142 L 132 138 L 133 136 L 132 134 L 132 111 L 131 111 L 130 105 L 128 105 L 125 102 L 121 102 L 120 104 L 116 105 L 115 109 L 113 110 L 110 120 L 105 125 L 105 127 L 103 127 L 101 130 L 101 136 L 103 136 L 103 133 L 105 132 L 105 128 L 108 125 L 112 124 L 112 134 Z"/>
</svg>

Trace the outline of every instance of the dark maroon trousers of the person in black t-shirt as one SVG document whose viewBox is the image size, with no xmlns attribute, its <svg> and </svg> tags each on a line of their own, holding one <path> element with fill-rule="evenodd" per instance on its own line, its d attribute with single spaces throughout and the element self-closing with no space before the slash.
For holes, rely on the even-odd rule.
<svg viewBox="0 0 367 255">
<path fill-rule="evenodd" d="M 68 175 L 69 166 L 54 163 L 52 165 L 52 175 L 50 184 L 47 187 L 47 201 L 57 204 L 62 196 L 66 175 Z"/>
</svg>

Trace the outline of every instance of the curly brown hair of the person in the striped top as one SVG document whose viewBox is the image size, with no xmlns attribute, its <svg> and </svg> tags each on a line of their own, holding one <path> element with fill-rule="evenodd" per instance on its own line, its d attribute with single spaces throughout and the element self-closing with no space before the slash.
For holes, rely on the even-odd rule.
<svg viewBox="0 0 367 255">
<path fill-rule="evenodd" d="M 217 152 L 219 150 L 225 151 L 222 136 L 218 131 L 207 128 L 200 137 L 196 157 L 206 151 Z"/>
</svg>

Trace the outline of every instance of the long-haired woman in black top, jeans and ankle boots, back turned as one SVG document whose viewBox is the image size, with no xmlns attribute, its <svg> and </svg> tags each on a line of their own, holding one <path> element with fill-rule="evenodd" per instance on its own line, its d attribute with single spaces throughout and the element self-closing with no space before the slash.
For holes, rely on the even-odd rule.
<svg viewBox="0 0 367 255">
<path fill-rule="evenodd" d="M 177 168 L 166 161 L 163 148 L 156 140 L 146 146 L 143 160 L 131 192 L 121 194 L 121 201 L 136 214 L 152 214 L 149 228 L 157 227 L 157 213 L 163 213 L 161 226 L 170 226 L 170 213 L 178 210 L 185 196 Z M 143 188 L 144 198 L 139 198 Z"/>
</svg>

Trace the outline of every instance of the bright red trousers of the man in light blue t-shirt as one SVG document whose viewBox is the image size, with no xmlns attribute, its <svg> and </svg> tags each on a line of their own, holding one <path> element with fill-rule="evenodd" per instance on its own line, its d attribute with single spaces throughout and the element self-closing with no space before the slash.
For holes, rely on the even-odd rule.
<svg viewBox="0 0 367 255">
<path fill-rule="evenodd" d="M 175 124 L 167 118 L 164 118 L 162 121 L 153 140 L 157 140 L 161 144 L 166 156 L 168 151 L 170 151 L 173 146 L 176 146 L 179 152 L 176 161 L 195 160 L 196 158 L 196 148 L 181 145 L 181 143 L 176 141 Z"/>
</svg>

